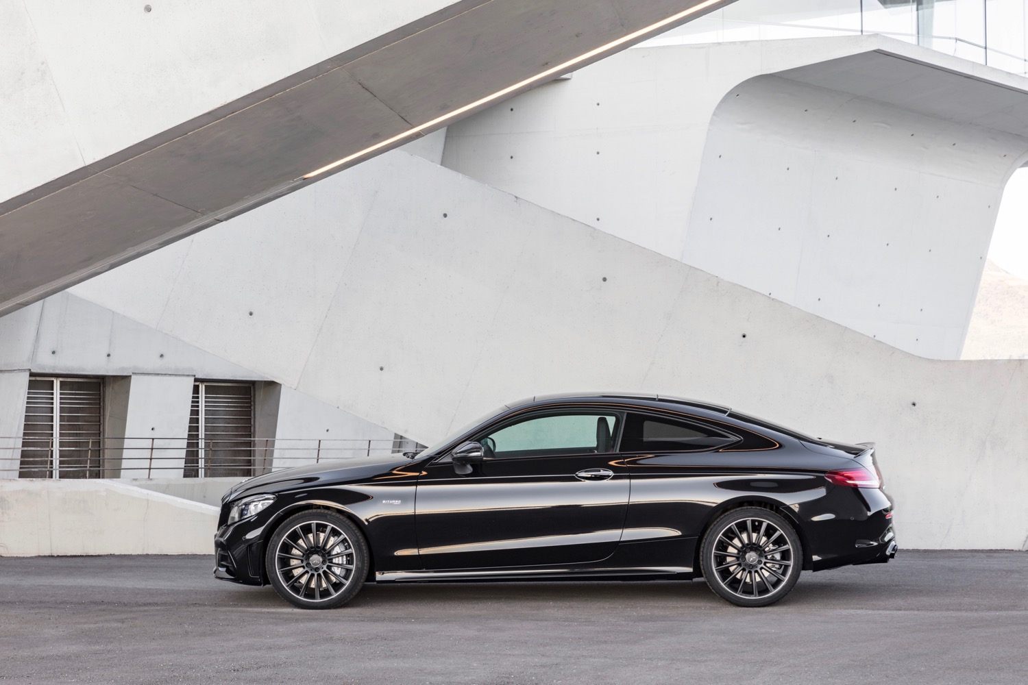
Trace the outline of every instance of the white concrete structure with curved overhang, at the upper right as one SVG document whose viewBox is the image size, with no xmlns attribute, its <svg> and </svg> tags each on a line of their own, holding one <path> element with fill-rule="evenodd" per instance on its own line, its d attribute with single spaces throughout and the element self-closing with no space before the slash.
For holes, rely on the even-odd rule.
<svg viewBox="0 0 1028 685">
<path fill-rule="evenodd" d="M 881 36 L 634 48 L 451 125 L 443 164 L 955 359 L 1026 89 Z"/>
</svg>

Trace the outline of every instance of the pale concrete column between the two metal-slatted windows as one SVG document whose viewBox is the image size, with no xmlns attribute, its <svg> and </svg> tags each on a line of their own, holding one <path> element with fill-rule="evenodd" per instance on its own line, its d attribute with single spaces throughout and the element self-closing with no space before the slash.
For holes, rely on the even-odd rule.
<svg viewBox="0 0 1028 685">
<path fill-rule="evenodd" d="M 121 478 L 183 474 L 192 386 L 192 376 L 132 375 Z"/>
</svg>

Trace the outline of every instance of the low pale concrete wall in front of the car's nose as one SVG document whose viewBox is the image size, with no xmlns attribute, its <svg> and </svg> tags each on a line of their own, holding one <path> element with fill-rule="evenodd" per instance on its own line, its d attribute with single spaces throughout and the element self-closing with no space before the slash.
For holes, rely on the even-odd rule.
<svg viewBox="0 0 1028 685">
<path fill-rule="evenodd" d="M 0 481 L 0 556 L 209 555 L 218 509 L 113 481 Z"/>
</svg>

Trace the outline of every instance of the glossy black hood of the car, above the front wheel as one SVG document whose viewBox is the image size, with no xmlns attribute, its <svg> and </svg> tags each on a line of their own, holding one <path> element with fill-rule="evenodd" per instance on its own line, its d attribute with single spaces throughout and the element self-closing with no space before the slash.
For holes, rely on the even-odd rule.
<svg viewBox="0 0 1028 685">
<path fill-rule="evenodd" d="M 335 459 L 305 466 L 284 468 L 263 475 L 256 475 L 232 486 L 222 496 L 221 501 L 227 502 L 251 494 L 265 492 L 281 492 L 292 488 L 311 484 L 335 485 L 353 483 L 374 478 L 389 472 L 397 466 L 409 464 L 410 460 L 398 454 L 387 454 L 352 459 Z"/>
</svg>

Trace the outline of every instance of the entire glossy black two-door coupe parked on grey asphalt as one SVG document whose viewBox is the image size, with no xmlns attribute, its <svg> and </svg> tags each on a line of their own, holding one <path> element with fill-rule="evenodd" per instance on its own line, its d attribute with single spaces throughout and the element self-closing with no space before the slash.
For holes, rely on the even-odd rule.
<svg viewBox="0 0 1028 685">
<path fill-rule="evenodd" d="M 234 486 L 214 575 L 306 609 L 365 582 L 691 579 L 746 607 L 803 570 L 884 563 L 873 444 L 810 437 L 660 395 L 513 403 L 417 453 Z"/>
</svg>

